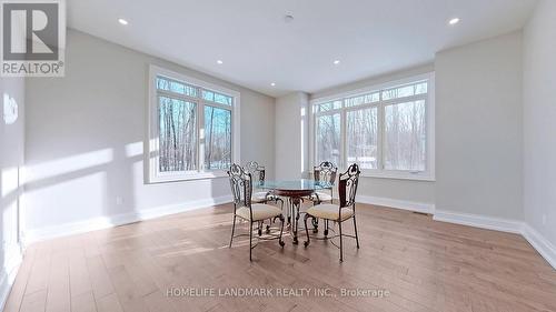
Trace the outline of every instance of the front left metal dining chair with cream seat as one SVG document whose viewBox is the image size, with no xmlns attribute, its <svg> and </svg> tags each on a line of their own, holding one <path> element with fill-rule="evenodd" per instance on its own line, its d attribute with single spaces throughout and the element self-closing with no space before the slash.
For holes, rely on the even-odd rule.
<svg viewBox="0 0 556 312">
<path fill-rule="evenodd" d="M 280 246 L 285 245 L 281 236 L 284 233 L 284 215 L 281 210 L 277 207 L 265 203 L 251 203 L 252 194 L 252 175 L 244 170 L 239 164 L 232 164 L 228 171 L 230 177 L 231 193 L 234 195 L 234 223 L 231 225 L 230 248 L 234 238 L 242 236 L 246 234 L 234 235 L 236 231 L 236 220 L 240 218 L 249 222 L 249 261 L 252 261 L 252 249 L 257 244 L 252 244 L 252 224 L 259 223 L 265 220 L 272 220 L 279 218 L 281 221 L 280 234 L 269 234 L 270 238 L 258 238 L 258 240 L 275 240 L 278 239 Z"/>
</svg>

